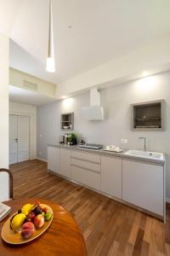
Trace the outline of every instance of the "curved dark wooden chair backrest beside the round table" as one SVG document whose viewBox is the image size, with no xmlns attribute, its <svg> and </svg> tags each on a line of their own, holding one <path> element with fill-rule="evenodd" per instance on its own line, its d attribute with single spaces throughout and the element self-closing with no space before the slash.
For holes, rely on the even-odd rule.
<svg viewBox="0 0 170 256">
<path fill-rule="evenodd" d="M 0 168 L 0 202 L 13 198 L 13 176 L 8 169 Z"/>
</svg>

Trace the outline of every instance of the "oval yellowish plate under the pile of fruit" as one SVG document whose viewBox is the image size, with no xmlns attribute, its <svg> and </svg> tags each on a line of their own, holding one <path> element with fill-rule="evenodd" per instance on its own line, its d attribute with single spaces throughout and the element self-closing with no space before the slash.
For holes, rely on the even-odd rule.
<svg viewBox="0 0 170 256">
<path fill-rule="evenodd" d="M 45 230 L 48 230 L 49 225 L 52 223 L 53 218 L 54 218 L 54 212 L 52 210 L 51 207 L 49 207 L 48 205 L 45 204 L 40 204 L 40 207 L 48 207 L 48 211 L 52 213 L 52 218 L 49 221 L 45 221 L 44 225 L 42 226 L 41 229 L 35 229 L 34 234 L 29 237 L 29 238 L 23 238 L 22 236 L 20 236 L 20 232 L 14 232 L 13 230 L 11 230 L 10 228 L 10 219 L 12 218 L 12 216 L 17 213 L 15 212 L 12 216 L 10 216 L 10 218 L 7 219 L 7 221 L 3 224 L 3 229 L 2 229 L 2 238 L 3 241 L 6 241 L 10 244 L 23 244 L 26 243 L 28 241 L 32 241 L 34 239 L 36 239 L 38 236 L 41 236 L 43 232 L 45 232 Z"/>
</svg>

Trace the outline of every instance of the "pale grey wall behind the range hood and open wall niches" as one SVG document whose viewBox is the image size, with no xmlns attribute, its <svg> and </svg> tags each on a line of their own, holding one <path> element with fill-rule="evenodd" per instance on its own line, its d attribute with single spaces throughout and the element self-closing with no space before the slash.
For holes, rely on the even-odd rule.
<svg viewBox="0 0 170 256">
<path fill-rule="evenodd" d="M 132 131 L 130 104 L 165 99 L 165 131 Z M 147 138 L 147 148 L 167 154 L 167 197 L 170 198 L 170 73 L 161 73 L 127 84 L 101 90 L 101 102 L 106 111 L 105 121 L 82 119 L 81 108 L 89 104 L 89 92 L 37 108 L 37 155 L 47 159 L 47 144 L 59 141 L 60 113 L 75 113 L 75 131 L 88 143 L 116 144 L 127 148 L 142 148 L 139 137 Z M 39 137 L 41 135 L 41 137 Z M 125 147 L 124 147 L 125 148 Z"/>
</svg>

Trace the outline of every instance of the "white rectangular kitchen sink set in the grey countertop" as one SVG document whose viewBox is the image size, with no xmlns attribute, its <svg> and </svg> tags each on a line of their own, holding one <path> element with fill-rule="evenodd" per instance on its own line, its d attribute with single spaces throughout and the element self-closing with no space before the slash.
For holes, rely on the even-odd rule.
<svg viewBox="0 0 170 256">
<path fill-rule="evenodd" d="M 130 149 L 127 152 L 125 152 L 124 154 L 131 155 L 131 156 L 137 156 L 137 157 L 141 157 L 141 158 L 154 159 L 154 160 L 164 160 L 163 153 L 158 153 L 158 152 Z"/>
</svg>

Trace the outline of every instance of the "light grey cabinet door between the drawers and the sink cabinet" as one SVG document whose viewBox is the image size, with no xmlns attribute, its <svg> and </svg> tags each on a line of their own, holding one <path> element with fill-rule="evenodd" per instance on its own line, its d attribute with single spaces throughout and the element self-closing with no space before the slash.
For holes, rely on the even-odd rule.
<svg viewBox="0 0 170 256">
<path fill-rule="evenodd" d="M 122 199 L 122 159 L 101 156 L 101 191 Z"/>
</svg>

